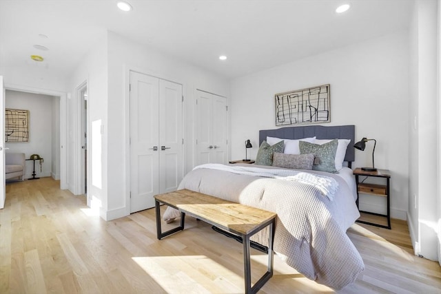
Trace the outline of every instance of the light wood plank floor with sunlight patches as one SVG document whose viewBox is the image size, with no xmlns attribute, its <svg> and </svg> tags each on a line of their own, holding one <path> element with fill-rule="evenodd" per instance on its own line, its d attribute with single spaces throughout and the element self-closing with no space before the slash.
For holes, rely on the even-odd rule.
<svg viewBox="0 0 441 294">
<path fill-rule="evenodd" d="M 6 185 L 0 293 L 243 292 L 242 245 L 209 225 L 188 217 L 185 231 L 158 241 L 154 209 L 105 222 L 58 187 L 51 178 Z M 348 230 L 366 270 L 339 293 L 441 293 L 439 264 L 413 255 L 405 222 L 392 226 Z M 254 279 L 266 261 L 252 250 Z M 277 256 L 274 266 L 259 293 L 334 292 Z"/>
</svg>

